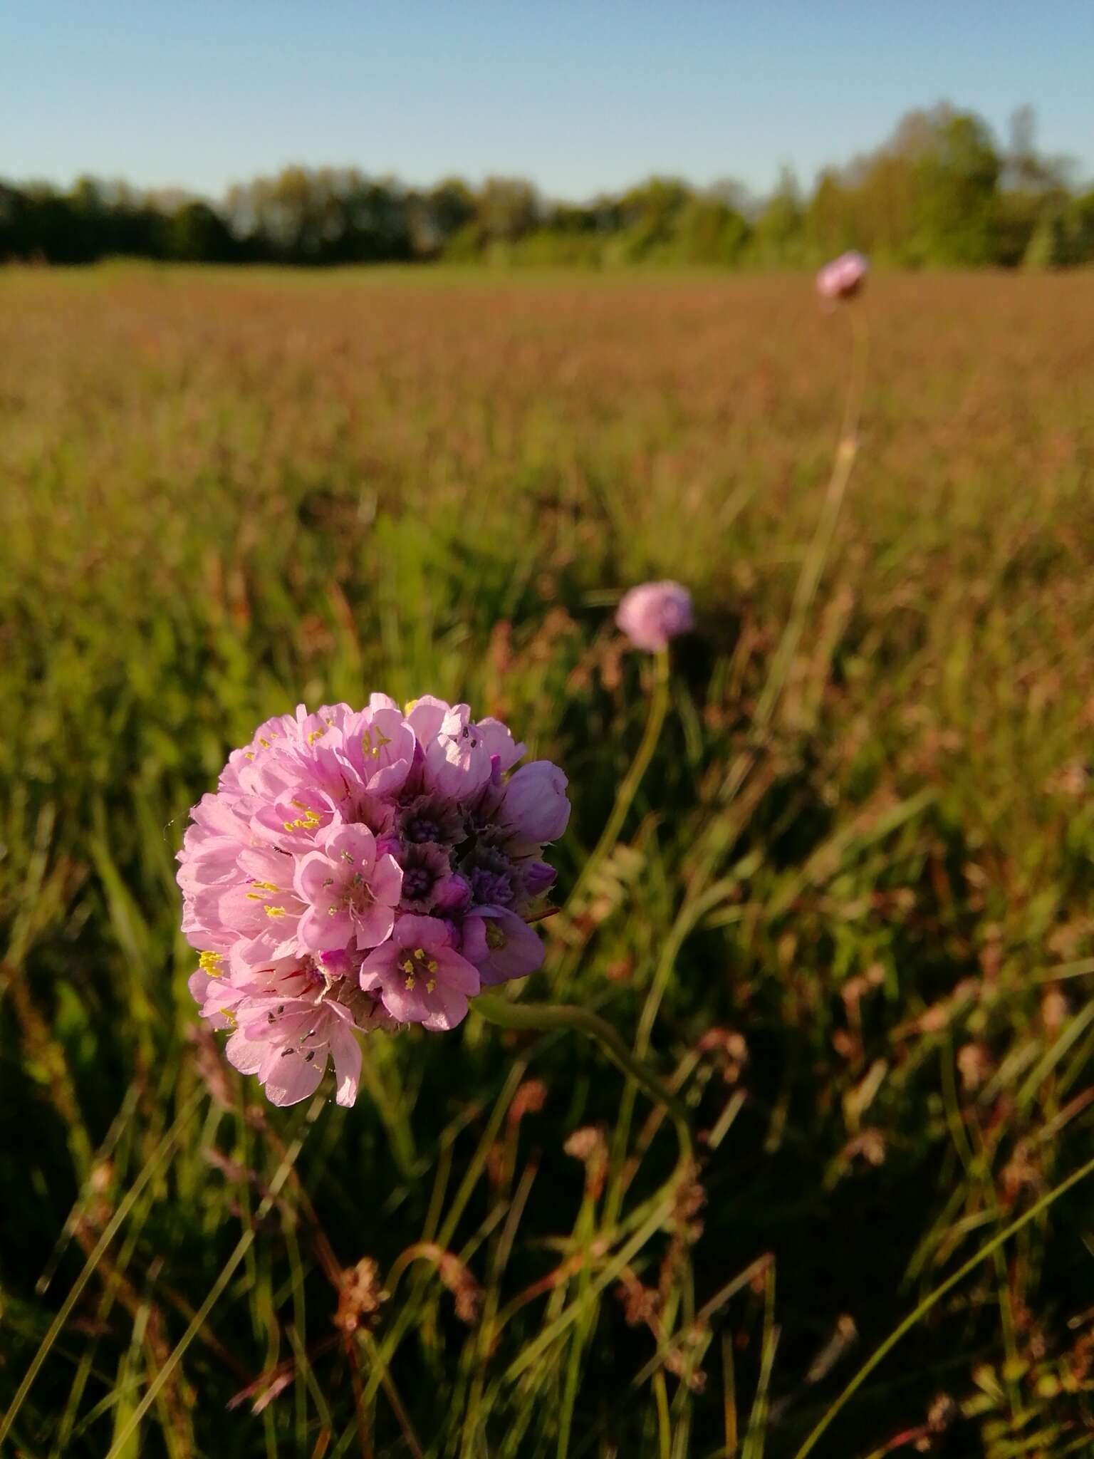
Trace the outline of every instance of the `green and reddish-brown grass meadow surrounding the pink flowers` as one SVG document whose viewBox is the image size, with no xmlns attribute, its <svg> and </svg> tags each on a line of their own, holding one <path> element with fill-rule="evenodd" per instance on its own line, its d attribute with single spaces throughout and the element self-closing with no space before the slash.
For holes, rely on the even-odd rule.
<svg viewBox="0 0 1094 1459">
<path fill-rule="evenodd" d="M 853 308 L 780 657 L 849 365 L 805 279 L 0 273 L 0 1452 L 794 1459 L 1090 1158 L 1094 276 Z M 567 900 L 651 576 L 697 632 Z M 373 689 L 566 769 L 519 996 L 648 1055 L 694 1166 L 573 1032 L 376 1034 L 354 1109 L 274 1110 L 195 1029 L 188 807 Z M 1090 1453 L 1093 1196 L 808 1452 Z"/>
</svg>

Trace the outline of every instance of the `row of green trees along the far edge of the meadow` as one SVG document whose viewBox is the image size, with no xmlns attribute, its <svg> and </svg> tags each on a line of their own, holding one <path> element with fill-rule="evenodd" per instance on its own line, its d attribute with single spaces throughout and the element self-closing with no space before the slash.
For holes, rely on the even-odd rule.
<svg viewBox="0 0 1094 1459">
<path fill-rule="evenodd" d="M 1094 260 L 1094 191 L 1075 188 L 1069 171 L 1037 150 L 1028 108 L 1001 146 L 980 117 L 944 104 L 910 112 L 811 193 L 785 174 L 763 200 L 735 182 L 651 178 L 573 204 L 521 178 L 408 188 L 356 168 L 286 168 L 219 204 L 93 178 L 70 191 L 0 182 L 0 260 L 763 268 L 859 248 L 903 267 L 1066 267 Z"/>
</svg>

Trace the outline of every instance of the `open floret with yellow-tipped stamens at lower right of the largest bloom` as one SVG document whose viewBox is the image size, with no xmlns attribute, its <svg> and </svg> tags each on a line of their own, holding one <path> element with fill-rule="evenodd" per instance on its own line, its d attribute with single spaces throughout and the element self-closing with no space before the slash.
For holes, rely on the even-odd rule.
<svg viewBox="0 0 1094 1459">
<path fill-rule="evenodd" d="M 360 986 L 375 991 L 400 1023 L 455 1029 L 467 1015 L 467 999 L 478 992 L 480 979 L 476 967 L 452 947 L 446 922 L 401 916 L 391 940 L 360 964 Z"/>
</svg>

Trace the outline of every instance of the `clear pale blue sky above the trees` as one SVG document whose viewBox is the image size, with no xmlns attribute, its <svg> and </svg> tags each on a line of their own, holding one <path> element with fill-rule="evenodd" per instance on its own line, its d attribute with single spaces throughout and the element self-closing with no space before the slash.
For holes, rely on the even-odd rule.
<svg viewBox="0 0 1094 1459">
<path fill-rule="evenodd" d="M 1094 0 L 0 0 L 0 177 L 217 196 L 287 162 L 407 182 L 651 172 L 757 191 L 950 99 L 1094 175 Z"/>
</svg>

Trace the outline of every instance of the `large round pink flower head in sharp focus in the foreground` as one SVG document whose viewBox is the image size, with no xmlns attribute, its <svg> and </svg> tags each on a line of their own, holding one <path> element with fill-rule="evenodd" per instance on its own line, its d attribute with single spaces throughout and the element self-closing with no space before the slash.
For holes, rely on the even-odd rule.
<svg viewBox="0 0 1094 1459">
<path fill-rule="evenodd" d="M 352 1104 L 359 1037 L 455 1027 L 483 983 L 543 963 L 528 925 L 554 880 L 566 776 L 497 719 L 424 696 L 267 719 L 191 813 L 179 852 L 190 991 L 276 1104 L 333 1064 Z"/>
</svg>

